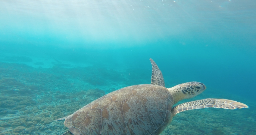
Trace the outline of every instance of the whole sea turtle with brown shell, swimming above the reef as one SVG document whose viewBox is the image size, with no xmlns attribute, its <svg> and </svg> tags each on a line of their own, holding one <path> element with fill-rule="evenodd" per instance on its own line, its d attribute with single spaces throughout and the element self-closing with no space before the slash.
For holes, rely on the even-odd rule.
<svg viewBox="0 0 256 135">
<path fill-rule="evenodd" d="M 201 82 L 186 82 L 165 88 L 164 78 L 157 64 L 152 64 L 151 84 L 133 85 L 108 93 L 77 110 L 65 119 L 64 125 L 74 135 L 158 135 L 177 113 L 207 107 L 236 109 L 247 105 L 227 100 L 207 98 L 174 104 L 195 97 L 206 86 Z M 63 135 L 64 135 L 63 134 Z"/>
</svg>

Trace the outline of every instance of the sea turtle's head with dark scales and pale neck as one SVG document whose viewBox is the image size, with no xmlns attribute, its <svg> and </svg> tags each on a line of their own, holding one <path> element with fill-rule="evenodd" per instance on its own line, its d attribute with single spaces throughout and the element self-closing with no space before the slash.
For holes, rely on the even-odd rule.
<svg viewBox="0 0 256 135">
<path fill-rule="evenodd" d="M 193 98 L 206 89 L 206 86 L 201 82 L 186 82 L 183 84 L 179 84 L 178 87 L 185 95 L 185 99 Z"/>
</svg>

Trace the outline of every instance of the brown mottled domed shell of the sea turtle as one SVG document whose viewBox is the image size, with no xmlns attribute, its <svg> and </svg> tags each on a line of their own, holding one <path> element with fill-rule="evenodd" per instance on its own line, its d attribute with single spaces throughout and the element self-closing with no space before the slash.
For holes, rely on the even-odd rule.
<svg viewBox="0 0 256 135">
<path fill-rule="evenodd" d="M 173 97 L 158 85 L 133 85 L 113 91 L 65 119 L 74 135 L 160 134 L 171 122 Z"/>
</svg>

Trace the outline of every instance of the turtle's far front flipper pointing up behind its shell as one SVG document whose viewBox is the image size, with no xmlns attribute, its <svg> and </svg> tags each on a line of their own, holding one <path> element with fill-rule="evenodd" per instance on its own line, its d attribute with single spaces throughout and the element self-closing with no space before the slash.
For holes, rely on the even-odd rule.
<svg viewBox="0 0 256 135">
<path fill-rule="evenodd" d="M 152 76 L 151 76 L 151 84 L 154 85 L 159 85 L 159 86 L 164 86 L 164 77 L 162 75 L 162 72 L 158 68 L 157 64 L 155 61 L 153 61 L 151 58 L 149 59 L 152 64 Z"/>
</svg>

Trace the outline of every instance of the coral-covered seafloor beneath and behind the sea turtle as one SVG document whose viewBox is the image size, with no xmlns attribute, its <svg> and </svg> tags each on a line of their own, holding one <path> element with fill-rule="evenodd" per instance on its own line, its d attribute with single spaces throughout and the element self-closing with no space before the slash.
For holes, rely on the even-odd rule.
<svg viewBox="0 0 256 135">
<path fill-rule="evenodd" d="M 42 63 L 35 63 L 42 64 Z M 68 131 L 64 121 L 55 119 L 67 116 L 111 91 L 119 88 L 150 83 L 151 71 L 115 71 L 100 67 L 35 68 L 26 64 L 0 63 L 0 134 L 62 134 Z M 175 81 L 167 80 L 173 82 Z M 44 92 L 61 95 L 53 95 Z M 207 92 L 206 92 L 207 91 Z M 255 135 L 256 103 L 246 97 L 208 88 L 201 95 L 184 100 L 226 98 L 247 104 L 250 108 L 198 109 L 179 113 L 161 135 Z M 62 95 L 69 95 L 72 98 Z"/>
</svg>

